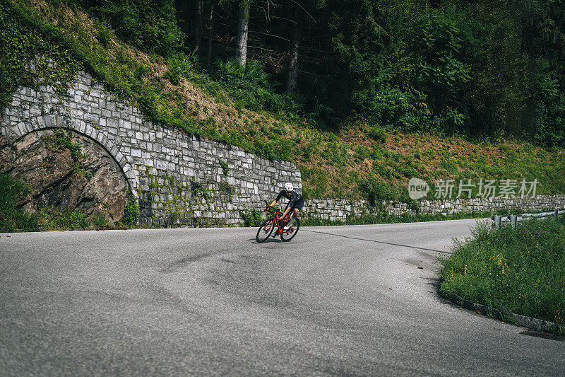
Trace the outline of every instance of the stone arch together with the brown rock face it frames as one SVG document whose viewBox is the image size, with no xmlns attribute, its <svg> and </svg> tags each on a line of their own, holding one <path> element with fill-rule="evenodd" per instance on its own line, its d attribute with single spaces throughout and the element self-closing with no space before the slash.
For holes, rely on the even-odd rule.
<svg viewBox="0 0 565 377">
<path fill-rule="evenodd" d="M 121 219 L 127 193 L 135 195 L 137 177 L 111 140 L 71 117 L 20 119 L 2 122 L 0 129 L 0 172 L 10 173 L 32 189 L 18 207 L 81 209 L 85 216 L 104 216 L 110 224 Z M 57 129 L 65 133 L 57 134 Z M 81 151 L 78 157 L 71 151 L 76 146 Z"/>
</svg>

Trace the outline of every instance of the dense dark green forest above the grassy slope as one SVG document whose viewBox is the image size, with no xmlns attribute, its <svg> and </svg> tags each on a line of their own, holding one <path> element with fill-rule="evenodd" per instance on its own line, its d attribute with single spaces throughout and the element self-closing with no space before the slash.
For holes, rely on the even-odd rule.
<svg viewBox="0 0 565 377">
<path fill-rule="evenodd" d="M 565 142 L 562 0 L 74 3 L 135 47 L 191 59 L 253 110 Z"/>
</svg>

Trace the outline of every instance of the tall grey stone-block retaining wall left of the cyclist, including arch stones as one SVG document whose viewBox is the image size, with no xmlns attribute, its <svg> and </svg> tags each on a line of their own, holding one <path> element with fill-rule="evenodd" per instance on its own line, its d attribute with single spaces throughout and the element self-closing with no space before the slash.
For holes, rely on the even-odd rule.
<svg viewBox="0 0 565 377">
<path fill-rule="evenodd" d="M 242 222 L 242 211 L 264 207 L 284 182 L 302 190 L 300 172 L 235 147 L 158 127 L 88 73 L 59 98 L 51 86 L 18 88 L 1 111 L 8 144 L 61 127 L 108 151 L 138 197 L 142 224 L 210 226 Z"/>
</svg>

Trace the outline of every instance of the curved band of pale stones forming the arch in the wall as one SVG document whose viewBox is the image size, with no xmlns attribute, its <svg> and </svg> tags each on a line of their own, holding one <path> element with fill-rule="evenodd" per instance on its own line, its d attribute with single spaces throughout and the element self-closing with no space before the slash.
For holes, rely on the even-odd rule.
<svg viewBox="0 0 565 377">
<path fill-rule="evenodd" d="M 27 134 L 42 129 L 69 129 L 89 139 L 93 139 L 114 158 L 128 182 L 129 190 L 133 192 L 133 195 L 136 195 L 136 190 L 133 190 L 135 187 L 138 187 L 136 170 L 133 169 L 125 156 L 119 151 L 119 148 L 110 139 L 86 122 L 76 121 L 65 115 L 40 115 L 30 117 L 24 122 L 8 124 L 8 127 L 3 127 L 1 131 L 8 143 L 14 144 Z"/>
</svg>

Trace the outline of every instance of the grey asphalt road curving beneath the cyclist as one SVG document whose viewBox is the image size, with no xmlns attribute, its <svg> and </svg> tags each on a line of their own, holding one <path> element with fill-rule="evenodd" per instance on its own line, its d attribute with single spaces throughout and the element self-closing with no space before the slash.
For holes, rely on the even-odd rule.
<svg viewBox="0 0 565 377">
<path fill-rule="evenodd" d="M 565 376 L 565 342 L 439 297 L 473 224 L 0 234 L 0 375 Z"/>
</svg>

